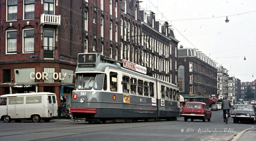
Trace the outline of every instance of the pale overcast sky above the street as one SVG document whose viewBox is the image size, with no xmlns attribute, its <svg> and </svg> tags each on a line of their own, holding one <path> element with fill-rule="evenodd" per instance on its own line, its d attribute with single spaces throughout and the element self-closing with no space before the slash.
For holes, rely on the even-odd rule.
<svg viewBox="0 0 256 141">
<path fill-rule="evenodd" d="M 256 79 L 256 0 L 140 1 L 172 25 L 178 48 L 199 49 L 241 82 Z"/>
</svg>

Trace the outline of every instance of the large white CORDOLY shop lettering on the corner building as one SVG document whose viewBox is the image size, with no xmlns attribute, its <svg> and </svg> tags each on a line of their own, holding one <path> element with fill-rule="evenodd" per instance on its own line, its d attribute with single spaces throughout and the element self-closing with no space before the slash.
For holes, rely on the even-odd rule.
<svg viewBox="0 0 256 141">
<path fill-rule="evenodd" d="M 63 75 L 63 78 L 61 78 L 61 74 Z M 35 75 L 35 77 L 33 76 L 33 75 Z M 38 80 L 40 80 L 40 79 L 46 79 L 46 80 L 48 80 L 49 78 L 48 78 L 48 73 L 47 72 L 31 72 L 30 73 L 30 75 L 29 75 L 29 77 L 30 77 L 30 79 L 38 79 Z M 54 79 L 54 80 L 64 80 L 65 79 L 65 77 L 67 76 L 67 73 L 61 73 L 61 72 L 59 72 L 59 73 L 57 73 L 57 72 L 54 72 L 53 74 L 52 74 L 52 78 Z"/>
</svg>

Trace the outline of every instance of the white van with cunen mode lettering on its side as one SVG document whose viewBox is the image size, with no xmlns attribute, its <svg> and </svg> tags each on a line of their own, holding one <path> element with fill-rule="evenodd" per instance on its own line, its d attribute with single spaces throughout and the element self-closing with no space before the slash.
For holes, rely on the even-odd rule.
<svg viewBox="0 0 256 141">
<path fill-rule="evenodd" d="M 58 104 L 55 93 L 16 93 L 0 96 L 0 119 L 4 122 L 21 122 L 31 119 L 49 122 L 58 116 Z"/>
</svg>

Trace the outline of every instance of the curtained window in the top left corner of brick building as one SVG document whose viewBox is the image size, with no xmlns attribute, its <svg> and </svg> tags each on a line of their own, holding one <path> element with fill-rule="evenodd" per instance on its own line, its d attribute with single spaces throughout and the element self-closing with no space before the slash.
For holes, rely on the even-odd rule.
<svg viewBox="0 0 256 141">
<path fill-rule="evenodd" d="M 7 0 L 7 20 L 17 20 L 17 0 Z"/>
</svg>

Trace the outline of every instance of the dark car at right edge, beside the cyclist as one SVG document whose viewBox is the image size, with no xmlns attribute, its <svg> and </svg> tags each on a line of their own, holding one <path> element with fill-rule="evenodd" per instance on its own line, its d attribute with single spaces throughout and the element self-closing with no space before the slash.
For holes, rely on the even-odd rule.
<svg viewBox="0 0 256 141">
<path fill-rule="evenodd" d="M 239 104 L 231 111 L 231 117 L 234 123 L 239 121 L 251 121 L 253 124 L 255 120 L 256 105 Z"/>
</svg>

